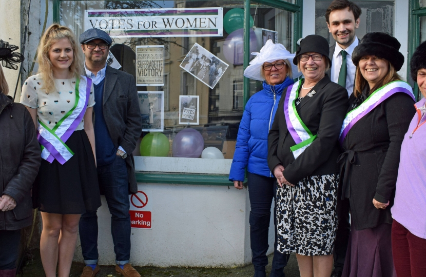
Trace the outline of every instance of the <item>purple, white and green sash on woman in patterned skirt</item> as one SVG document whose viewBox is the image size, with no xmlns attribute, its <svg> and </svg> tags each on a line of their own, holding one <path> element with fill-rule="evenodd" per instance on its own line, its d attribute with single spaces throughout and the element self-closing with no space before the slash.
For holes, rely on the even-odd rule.
<svg viewBox="0 0 426 277">
<path fill-rule="evenodd" d="M 297 159 L 297 157 L 312 144 L 315 138 L 317 138 L 317 135 L 313 135 L 312 132 L 309 131 L 296 110 L 295 101 L 299 97 L 299 89 L 302 85 L 302 81 L 303 79 L 289 86 L 284 99 L 284 115 L 287 129 L 296 142 L 295 146 L 290 147 L 295 159 Z"/>
</svg>

